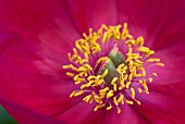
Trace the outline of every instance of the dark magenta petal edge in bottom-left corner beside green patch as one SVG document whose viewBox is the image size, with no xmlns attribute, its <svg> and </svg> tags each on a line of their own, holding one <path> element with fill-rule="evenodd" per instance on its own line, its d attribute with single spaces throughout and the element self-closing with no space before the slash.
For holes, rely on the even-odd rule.
<svg viewBox="0 0 185 124">
<path fill-rule="evenodd" d="M 67 124 L 49 116 L 40 115 L 32 110 L 9 101 L 0 100 L 0 103 L 18 124 Z"/>
</svg>

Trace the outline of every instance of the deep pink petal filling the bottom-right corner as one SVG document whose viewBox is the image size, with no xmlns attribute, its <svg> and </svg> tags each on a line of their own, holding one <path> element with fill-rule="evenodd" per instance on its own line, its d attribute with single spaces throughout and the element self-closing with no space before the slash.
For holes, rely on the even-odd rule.
<svg viewBox="0 0 185 124">
<path fill-rule="evenodd" d="M 140 114 L 151 123 L 175 123 L 183 124 L 185 121 L 185 82 L 173 85 L 160 85 L 149 87 L 149 95 L 140 95 L 141 106 L 135 107 Z"/>
</svg>

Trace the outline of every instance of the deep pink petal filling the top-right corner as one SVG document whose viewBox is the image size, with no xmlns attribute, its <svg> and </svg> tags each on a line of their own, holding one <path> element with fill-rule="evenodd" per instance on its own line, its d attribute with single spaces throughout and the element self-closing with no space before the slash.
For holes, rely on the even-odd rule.
<svg viewBox="0 0 185 124">
<path fill-rule="evenodd" d="M 183 38 L 184 4 L 183 0 L 119 0 L 119 23 L 127 22 L 130 32 L 135 37 L 141 35 L 147 46 L 159 49 Z"/>
</svg>

